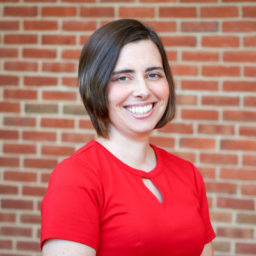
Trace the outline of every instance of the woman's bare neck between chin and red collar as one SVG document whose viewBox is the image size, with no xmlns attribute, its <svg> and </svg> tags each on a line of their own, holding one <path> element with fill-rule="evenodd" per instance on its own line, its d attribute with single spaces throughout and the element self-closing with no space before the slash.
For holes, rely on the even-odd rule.
<svg viewBox="0 0 256 256">
<path fill-rule="evenodd" d="M 127 138 L 119 132 L 113 132 L 109 134 L 109 140 L 98 138 L 97 142 L 128 166 L 150 172 L 156 167 L 157 158 L 149 145 L 149 135 Z"/>
</svg>

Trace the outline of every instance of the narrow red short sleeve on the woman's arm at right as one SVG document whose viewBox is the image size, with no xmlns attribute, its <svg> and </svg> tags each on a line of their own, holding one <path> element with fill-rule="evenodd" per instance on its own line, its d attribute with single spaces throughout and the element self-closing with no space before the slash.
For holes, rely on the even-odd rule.
<svg viewBox="0 0 256 256">
<path fill-rule="evenodd" d="M 207 202 L 207 196 L 205 191 L 204 179 L 201 173 L 196 169 L 196 167 L 192 164 L 194 172 L 195 172 L 195 180 L 196 180 L 196 189 L 198 193 L 198 200 L 200 204 L 200 216 L 204 222 L 205 227 L 205 244 L 209 243 L 216 237 L 214 230 L 211 225 L 210 216 L 209 216 L 209 207 Z"/>
</svg>

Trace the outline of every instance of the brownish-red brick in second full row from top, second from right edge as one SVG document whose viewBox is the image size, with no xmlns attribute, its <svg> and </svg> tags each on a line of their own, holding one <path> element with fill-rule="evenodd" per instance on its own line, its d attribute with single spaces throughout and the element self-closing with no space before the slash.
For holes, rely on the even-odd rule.
<svg viewBox="0 0 256 256">
<path fill-rule="evenodd" d="M 217 22 L 181 22 L 182 32 L 216 32 Z"/>
</svg>

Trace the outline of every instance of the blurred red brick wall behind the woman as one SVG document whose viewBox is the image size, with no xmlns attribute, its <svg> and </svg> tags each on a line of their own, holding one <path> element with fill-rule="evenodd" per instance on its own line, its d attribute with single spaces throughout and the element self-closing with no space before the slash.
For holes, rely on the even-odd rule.
<svg viewBox="0 0 256 256">
<path fill-rule="evenodd" d="M 95 29 L 134 17 L 163 38 L 179 107 L 151 142 L 202 173 L 215 255 L 256 255 L 255 0 L 0 0 L 0 255 L 41 255 L 40 202 L 95 138 L 77 60 Z"/>
</svg>

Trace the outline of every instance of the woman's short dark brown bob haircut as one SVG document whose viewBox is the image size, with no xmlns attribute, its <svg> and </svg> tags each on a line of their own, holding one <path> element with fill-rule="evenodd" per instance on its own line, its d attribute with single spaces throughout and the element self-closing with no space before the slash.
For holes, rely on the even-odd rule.
<svg viewBox="0 0 256 256">
<path fill-rule="evenodd" d="M 93 33 L 84 44 L 79 58 L 79 91 L 99 137 L 109 138 L 108 84 L 111 81 L 120 51 L 124 45 L 141 40 L 151 40 L 157 45 L 170 88 L 166 110 L 154 129 L 163 127 L 175 115 L 173 76 L 161 39 L 153 29 L 143 25 L 139 20 L 116 20 Z"/>
</svg>

